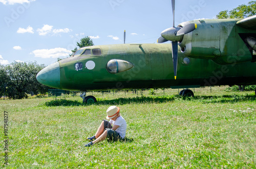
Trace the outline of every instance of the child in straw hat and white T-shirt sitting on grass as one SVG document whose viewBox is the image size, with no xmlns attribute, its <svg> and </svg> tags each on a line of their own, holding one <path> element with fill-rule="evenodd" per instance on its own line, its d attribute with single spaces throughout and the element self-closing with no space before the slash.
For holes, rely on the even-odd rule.
<svg viewBox="0 0 256 169">
<path fill-rule="evenodd" d="M 87 138 L 91 142 L 85 144 L 85 147 L 90 147 L 105 138 L 113 141 L 124 139 L 127 125 L 125 119 L 120 115 L 119 107 L 110 106 L 108 110 L 106 110 L 106 114 L 106 119 L 110 119 L 110 122 L 103 119 L 96 134 Z"/>
</svg>

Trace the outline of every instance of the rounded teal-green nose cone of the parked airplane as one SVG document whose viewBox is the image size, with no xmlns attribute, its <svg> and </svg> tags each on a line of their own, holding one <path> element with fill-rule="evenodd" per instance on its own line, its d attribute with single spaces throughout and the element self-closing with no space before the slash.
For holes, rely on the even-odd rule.
<svg viewBox="0 0 256 169">
<path fill-rule="evenodd" d="M 46 86 L 60 88 L 59 62 L 55 62 L 39 71 L 36 75 L 36 80 Z"/>
</svg>

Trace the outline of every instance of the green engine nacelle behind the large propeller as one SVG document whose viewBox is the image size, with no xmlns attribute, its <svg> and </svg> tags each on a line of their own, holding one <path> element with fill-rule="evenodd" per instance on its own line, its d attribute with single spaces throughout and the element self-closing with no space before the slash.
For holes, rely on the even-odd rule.
<svg viewBox="0 0 256 169">
<path fill-rule="evenodd" d="M 181 51 L 192 58 L 212 59 L 224 65 L 254 61 L 252 49 L 255 47 L 255 37 L 241 36 L 239 32 L 245 29 L 236 24 L 238 20 L 199 19 L 181 23 L 178 27 L 189 23 L 197 23 L 198 26 L 183 36 L 179 42 Z M 250 32 L 256 33 L 254 30 Z"/>
</svg>

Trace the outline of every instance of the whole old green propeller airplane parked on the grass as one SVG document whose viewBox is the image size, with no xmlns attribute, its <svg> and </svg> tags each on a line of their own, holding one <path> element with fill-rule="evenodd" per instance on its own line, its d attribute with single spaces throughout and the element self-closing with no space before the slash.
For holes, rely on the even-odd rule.
<svg viewBox="0 0 256 169">
<path fill-rule="evenodd" d="M 161 33 L 158 42 L 166 41 L 172 44 L 82 47 L 42 69 L 36 78 L 74 91 L 256 84 L 256 15 L 183 22 Z M 83 102 L 96 102 L 85 94 Z M 189 89 L 180 94 L 194 96 Z"/>
</svg>

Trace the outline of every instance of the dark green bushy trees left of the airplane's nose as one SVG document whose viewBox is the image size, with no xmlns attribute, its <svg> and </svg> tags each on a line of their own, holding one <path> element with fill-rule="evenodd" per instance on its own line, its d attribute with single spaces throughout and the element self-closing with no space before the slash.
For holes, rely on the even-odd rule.
<svg viewBox="0 0 256 169">
<path fill-rule="evenodd" d="M 36 80 L 37 73 L 45 65 L 38 65 L 36 62 L 14 62 L 0 69 L 1 95 L 6 84 L 6 95 L 10 99 L 23 99 L 30 94 L 45 93 L 49 87 L 40 84 Z"/>
</svg>

